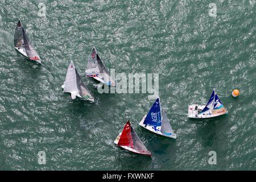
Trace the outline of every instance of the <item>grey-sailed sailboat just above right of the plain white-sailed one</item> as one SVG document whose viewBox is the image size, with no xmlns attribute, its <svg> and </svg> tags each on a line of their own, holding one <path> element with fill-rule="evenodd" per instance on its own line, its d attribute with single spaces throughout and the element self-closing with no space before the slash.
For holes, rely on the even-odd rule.
<svg viewBox="0 0 256 182">
<path fill-rule="evenodd" d="M 115 86 L 115 81 L 110 78 L 109 71 L 101 61 L 100 56 L 98 56 L 95 47 L 93 47 L 92 52 L 90 52 L 85 72 L 87 77 L 93 77 L 106 85 Z"/>
</svg>

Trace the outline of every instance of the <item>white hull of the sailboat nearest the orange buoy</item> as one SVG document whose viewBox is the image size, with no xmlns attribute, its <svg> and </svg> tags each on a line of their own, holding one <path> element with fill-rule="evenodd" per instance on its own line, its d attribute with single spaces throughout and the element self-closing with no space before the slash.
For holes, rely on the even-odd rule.
<svg viewBox="0 0 256 182">
<path fill-rule="evenodd" d="M 198 105 L 198 104 L 193 104 L 188 106 L 188 117 L 189 118 L 213 118 L 217 117 L 223 114 L 227 114 L 228 111 L 223 110 L 220 113 L 214 113 L 212 110 L 209 110 L 203 114 L 199 114 L 201 110 L 204 109 L 205 106 L 203 105 Z"/>
</svg>

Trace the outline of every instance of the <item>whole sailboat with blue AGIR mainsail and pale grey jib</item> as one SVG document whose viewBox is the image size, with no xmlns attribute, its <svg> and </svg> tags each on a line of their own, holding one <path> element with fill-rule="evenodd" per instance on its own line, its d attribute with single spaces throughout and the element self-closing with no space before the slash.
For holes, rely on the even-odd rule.
<svg viewBox="0 0 256 182">
<path fill-rule="evenodd" d="M 153 133 L 176 139 L 176 134 L 170 125 L 166 113 L 160 105 L 160 98 L 156 98 L 150 111 L 144 115 L 139 125 Z"/>
</svg>

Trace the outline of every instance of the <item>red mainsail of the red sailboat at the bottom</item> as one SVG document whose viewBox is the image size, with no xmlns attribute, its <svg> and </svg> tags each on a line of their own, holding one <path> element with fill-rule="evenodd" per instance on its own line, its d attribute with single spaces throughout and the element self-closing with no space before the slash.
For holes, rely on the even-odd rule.
<svg viewBox="0 0 256 182">
<path fill-rule="evenodd" d="M 131 123 L 127 121 L 125 127 L 123 127 L 123 131 L 121 137 L 117 143 L 118 146 L 128 146 L 134 148 L 133 138 L 131 137 Z"/>
</svg>

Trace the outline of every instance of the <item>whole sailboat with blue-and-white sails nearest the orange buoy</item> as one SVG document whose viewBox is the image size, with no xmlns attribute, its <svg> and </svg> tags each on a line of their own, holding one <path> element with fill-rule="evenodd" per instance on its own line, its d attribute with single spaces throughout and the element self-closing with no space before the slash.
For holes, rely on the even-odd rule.
<svg viewBox="0 0 256 182">
<path fill-rule="evenodd" d="M 228 111 L 224 108 L 224 105 L 217 96 L 215 89 L 213 89 L 207 105 L 193 104 L 188 106 L 189 118 L 212 118 L 227 113 Z"/>
</svg>

